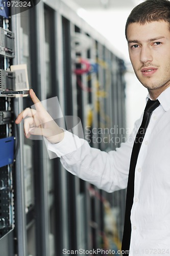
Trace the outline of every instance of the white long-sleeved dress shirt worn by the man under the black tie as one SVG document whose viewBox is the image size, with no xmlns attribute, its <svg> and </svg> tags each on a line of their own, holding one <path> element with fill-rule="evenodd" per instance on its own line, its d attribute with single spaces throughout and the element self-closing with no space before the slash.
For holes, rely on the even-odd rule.
<svg viewBox="0 0 170 256">
<path fill-rule="evenodd" d="M 158 100 L 160 105 L 151 116 L 135 169 L 130 255 L 170 254 L 170 87 Z M 126 188 L 142 116 L 127 142 L 116 151 L 91 148 L 87 141 L 69 132 L 58 144 L 48 142 L 48 150 L 61 157 L 70 173 L 98 188 L 108 192 Z"/>
</svg>

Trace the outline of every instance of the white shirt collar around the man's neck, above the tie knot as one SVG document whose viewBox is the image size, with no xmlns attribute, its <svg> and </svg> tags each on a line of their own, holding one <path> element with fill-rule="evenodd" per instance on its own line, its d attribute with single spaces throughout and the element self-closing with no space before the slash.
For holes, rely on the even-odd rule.
<svg viewBox="0 0 170 256">
<path fill-rule="evenodd" d="M 151 96 L 148 94 L 146 100 L 151 99 Z M 170 87 L 164 90 L 157 98 L 164 109 L 164 111 L 170 110 Z"/>
</svg>

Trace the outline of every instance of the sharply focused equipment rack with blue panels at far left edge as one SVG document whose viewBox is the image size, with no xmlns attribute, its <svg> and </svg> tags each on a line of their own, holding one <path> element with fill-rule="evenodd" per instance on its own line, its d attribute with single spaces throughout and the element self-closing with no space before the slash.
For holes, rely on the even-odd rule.
<svg viewBox="0 0 170 256">
<path fill-rule="evenodd" d="M 2 3 L 1 3 L 2 4 Z M 7 89 L 13 89 L 14 76 L 9 71 L 10 65 L 13 63 L 13 58 L 16 53 L 14 46 L 15 35 L 11 31 L 11 19 L 9 17 L 9 8 L 7 13 L 0 12 L 0 29 L 1 29 L 1 94 L 6 93 Z M 8 71 L 7 71 L 8 69 Z M 7 82 L 8 81 L 8 82 Z M 13 123 L 14 100 L 7 95 L 1 95 L 1 167 L 0 167 L 0 246 L 1 255 L 13 255 L 15 253 L 15 222 L 16 222 L 16 190 L 15 187 L 15 164 L 16 157 L 15 146 L 18 145 L 18 140 L 15 141 L 15 127 Z M 18 139 L 18 138 L 17 138 Z M 18 147 L 17 147 L 18 148 Z M 9 244 L 11 245 L 9 247 Z"/>
</svg>

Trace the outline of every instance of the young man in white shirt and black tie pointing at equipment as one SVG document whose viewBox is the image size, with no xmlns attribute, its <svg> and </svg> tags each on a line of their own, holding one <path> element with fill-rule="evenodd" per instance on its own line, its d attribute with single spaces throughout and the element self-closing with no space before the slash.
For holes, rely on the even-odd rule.
<svg viewBox="0 0 170 256">
<path fill-rule="evenodd" d="M 61 157 L 70 173 L 108 192 L 127 187 L 130 162 L 136 161 L 134 181 L 129 185 L 134 187 L 130 238 L 125 231 L 123 250 L 130 250 L 130 255 L 166 255 L 170 254 L 170 2 L 147 0 L 136 6 L 127 20 L 126 37 L 134 72 L 149 91 L 147 101 L 158 99 L 160 103 L 147 123 L 136 160 L 131 159 L 132 148 L 143 114 L 128 141 L 109 153 L 63 132 L 32 90 L 34 118 L 26 109 L 16 123 L 30 116 L 25 121 L 26 137 L 46 137 L 48 149 Z M 34 123 L 43 125 L 38 128 Z"/>
</svg>

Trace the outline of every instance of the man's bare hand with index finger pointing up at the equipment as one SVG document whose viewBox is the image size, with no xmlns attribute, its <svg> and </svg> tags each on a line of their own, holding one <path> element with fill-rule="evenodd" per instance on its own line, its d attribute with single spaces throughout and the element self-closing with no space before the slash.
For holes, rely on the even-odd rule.
<svg viewBox="0 0 170 256">
<path fill-rule="evenodd" d="M 30 135 L 44 136 L 48 141 L 55 144 L 64 138 L 63 130 L 57 125 L 50 114 L 43 108 L 40 100 L 32 89 L 30 89 L 30 97 L 35 104 L 34 109 L 27 108 L 23 110 L 15 120 L 18 124 L 25 117 L 24 131 L 26 138 Z"/>
</svg>

